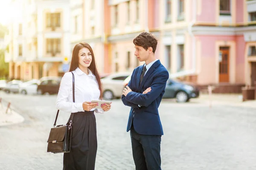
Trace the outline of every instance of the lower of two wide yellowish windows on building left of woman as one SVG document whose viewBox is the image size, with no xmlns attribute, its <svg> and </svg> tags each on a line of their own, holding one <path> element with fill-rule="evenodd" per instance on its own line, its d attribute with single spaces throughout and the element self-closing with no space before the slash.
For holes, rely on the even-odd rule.
<svg viewBox="0 0 256 170">
<path fill-rule="evenodd" d="M 61 39 L 47 39 L 46 48 L 47 53 L 51 53 L 52 56 L 55 56 L 56 53 L 61 52 Z"/>
</svg>

